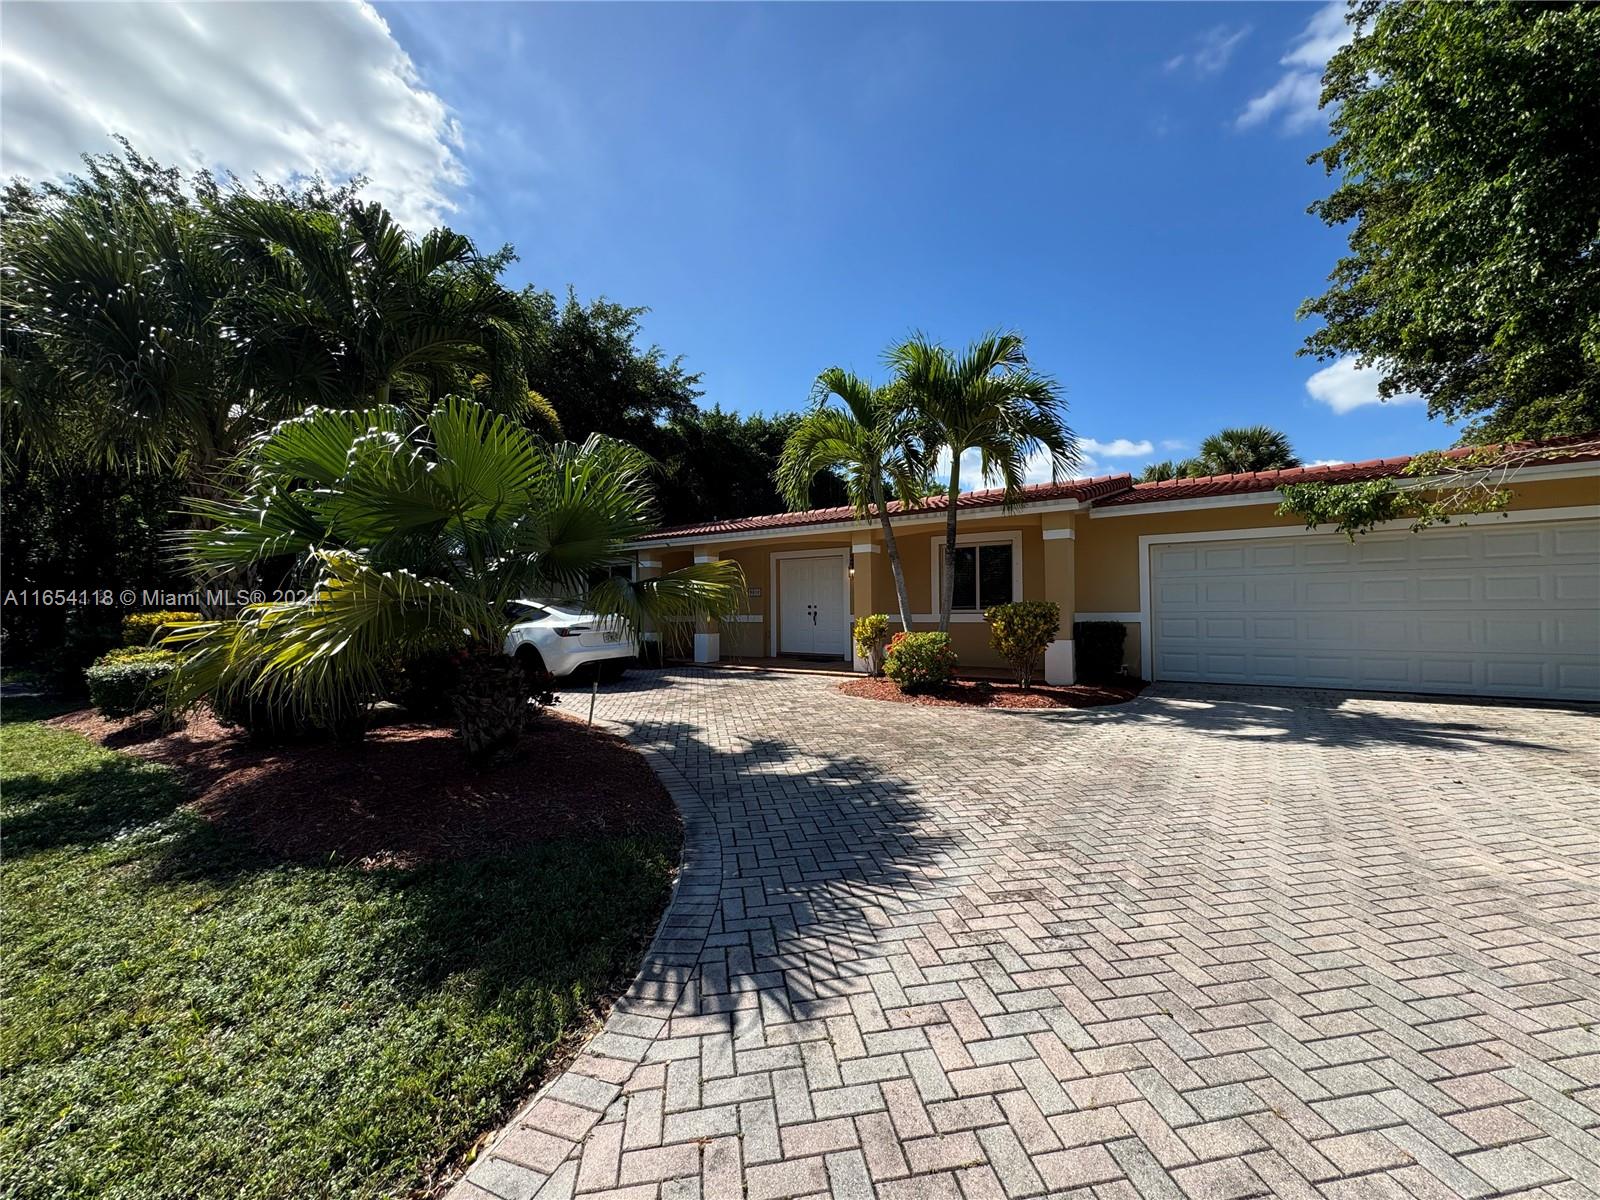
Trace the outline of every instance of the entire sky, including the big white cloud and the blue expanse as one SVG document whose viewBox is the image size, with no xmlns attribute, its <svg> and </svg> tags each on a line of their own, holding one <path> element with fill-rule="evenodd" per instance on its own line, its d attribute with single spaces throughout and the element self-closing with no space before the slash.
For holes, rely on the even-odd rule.
<svg viewBox="0 0 1600 1200">
<path fill-rule="evenodd" d="M 1454 435 L 1294 354 L 1344 245 L 1306 213 L 1344 35 L 1341 0 L 11 5 L 0 173 L 61 176 L 114 131 L 358 173 L 411 229 L 515 243 L 517 282 L 650 306 L 739 411 L 880 374 L 912 330 L 1003 326 L 1096 470 L 1245 422 L 1358 459 Z"/>
</svg>

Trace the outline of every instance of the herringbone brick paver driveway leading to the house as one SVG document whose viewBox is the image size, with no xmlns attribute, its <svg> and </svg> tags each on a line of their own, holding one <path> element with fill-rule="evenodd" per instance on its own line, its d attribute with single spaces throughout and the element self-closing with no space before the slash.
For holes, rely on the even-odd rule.
<svg viewBox="0 0 1600 1200">
<path fill-rule="evenodd" d="M 1592 714 L 677 670 L 602 715 L 683 882 L 461 1197 L 1600 1195 Z"/>
</svg>

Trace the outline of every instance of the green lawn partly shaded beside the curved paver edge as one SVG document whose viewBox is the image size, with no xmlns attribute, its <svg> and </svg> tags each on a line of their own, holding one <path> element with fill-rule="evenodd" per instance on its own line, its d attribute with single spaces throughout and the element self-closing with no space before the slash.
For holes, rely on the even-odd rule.
<svg viewBox="0 0 1600 1200">
<path fill-rule="evenodd" d="M 290 866 L 163 766 L 0 728 L 0 1195 L 416 1190 L 626 976 L 667 838 Z"/>
</svg>

